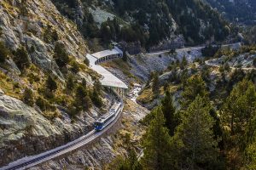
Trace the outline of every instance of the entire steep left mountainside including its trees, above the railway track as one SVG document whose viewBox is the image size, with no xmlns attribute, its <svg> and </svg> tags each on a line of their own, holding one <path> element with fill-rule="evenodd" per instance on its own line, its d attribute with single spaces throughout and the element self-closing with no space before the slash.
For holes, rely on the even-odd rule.
<svg viewBox="0 0 256 170">
<path fill-rule="evenodd" d="M 81 102 L 90 102 L 96 73 L 83 63 L 84 38 L 53 3 L 2 0 L 0 46 L 0 166 L 67 143 L 91 127 L 98 109 L 81 111 L 74 90 L 78 86 Z"/>
</svg>

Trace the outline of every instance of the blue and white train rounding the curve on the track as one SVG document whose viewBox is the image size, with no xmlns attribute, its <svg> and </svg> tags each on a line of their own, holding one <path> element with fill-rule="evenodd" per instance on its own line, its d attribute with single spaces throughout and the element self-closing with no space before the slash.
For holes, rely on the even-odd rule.
<svg viewBox="0 0 256 170">
<path fill-rule="evenodd" d="M 108 124 L 113 122 L 114 117 L 117 116 L 117 114 L 119 114 L 121 107 L 122 107 L 122 104 L 120 102 L 113 104 L 111 109 L 108 111 L 108 114 L 105 116 L 102 116 L 94 123 L 95 130 L 97 132 L 102 131 L 103 128 L 107 127 Z"/>
</svg>

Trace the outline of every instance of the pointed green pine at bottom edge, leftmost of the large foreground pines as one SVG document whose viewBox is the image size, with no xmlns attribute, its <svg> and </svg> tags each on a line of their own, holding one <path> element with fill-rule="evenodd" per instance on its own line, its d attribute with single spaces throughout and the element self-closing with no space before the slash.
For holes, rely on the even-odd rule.
<svg viewBox="0 0 256 170">
<path fill-rule="evenodd" d="M 154 119 L 150 122 L 146 134 L 143 136 L 143 166 L 146 169 L 169 169 L 170 136 L 165 126 L 165 117 L 158 107 L 153 111 Z M 172 167 L 172 166 L 171 166 Z"/>
</svg>

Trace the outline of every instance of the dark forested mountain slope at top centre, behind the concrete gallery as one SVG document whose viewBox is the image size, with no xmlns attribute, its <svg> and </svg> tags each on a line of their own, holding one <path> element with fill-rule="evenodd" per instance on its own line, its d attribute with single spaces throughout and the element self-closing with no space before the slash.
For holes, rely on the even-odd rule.
<svg viewBox="0 0 256 170">
<path fill-rule="evenodd" d="M 79 25 L 84 37 L 99 37 L 103 42 L 139 41 L 150 48 L 180 34 L 190 44 L 205 42 L 212 36 L 220 41 L 229 34 L 228 24 L 201 0 L 52 2 Z M 105 20 L 96 23 L 94 11 L 105 11 L 101 13 Z"/>
</svg>

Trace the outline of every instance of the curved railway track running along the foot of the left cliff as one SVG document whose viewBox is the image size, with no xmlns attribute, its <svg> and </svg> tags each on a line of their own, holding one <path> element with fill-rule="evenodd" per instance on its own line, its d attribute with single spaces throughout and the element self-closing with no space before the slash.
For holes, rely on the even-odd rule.
<svg viewBox="0 0 256 170">
<path fill-rule="evenodd" d="M 113 125 L 116 122 L 119 121 L 119 118 L 122 115 L 122 111 L 124 109 L 124 102 L 122 98 L 119 96 L 119 94 L 116 94 L 116 95 L 118 96 L 119 100 L 122 103 L 121 110 L 116 116 L 113 117 L 112 120 L 110 120 L 112 122 L 108 125 L 108 127 L 105 127 L 102 131 L 96 132 L 95 130 L 92 130 L 90 131 L 90 133 L 87 133 L 86 135 L 80 137 L 79 139 L 73 140 L 68 144 L 62 145 L 53 150 L 46 151 L 42 154 L 39 154 L 38 156 L 29 156 L 29 157 L 22 158 L 18 161 L 10 163 L 9 166 L 7 167 L 1 167 L 0 170 L 15 170 L 15 169 L 21 170 L 29 167 L 34 167 L 40 163 L 43 163 L 44 161 L 49 161 L 58 156 L 63 156 L 73 150 L 77 150 L 83 147 L 84 145 L 89 144 L 91 141 L 101 137 L 103 133 L 106 133 L 111 127 L 113 127 Z"/>
</svg>

